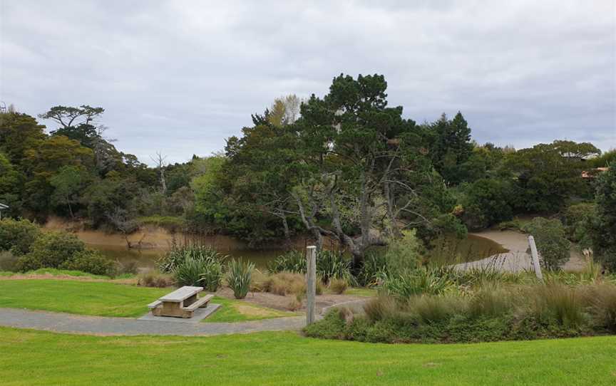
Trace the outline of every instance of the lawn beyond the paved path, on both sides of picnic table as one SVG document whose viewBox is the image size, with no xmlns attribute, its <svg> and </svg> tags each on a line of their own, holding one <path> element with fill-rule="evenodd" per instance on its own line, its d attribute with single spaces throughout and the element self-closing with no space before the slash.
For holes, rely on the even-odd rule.
<svg viewBox="0 0 616 386">
<path fill-rule="evenodd" d="M 94 281 L 0 280 L 0 307 L 134 318 L 147 313 L 148 303 L 170 291 L 170 288 Z M 212 303 L 219 303 L 222 307 L 205 319 L 210 323 L 297 315 L 217 296 L 212 299 Z"/>
</svg>

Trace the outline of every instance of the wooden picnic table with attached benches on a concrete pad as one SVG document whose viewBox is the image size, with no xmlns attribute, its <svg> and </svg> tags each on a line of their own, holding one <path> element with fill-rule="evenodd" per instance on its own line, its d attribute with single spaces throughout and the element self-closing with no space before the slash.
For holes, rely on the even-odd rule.
<svg viewBox="0 0 616 386">
<path fill-rule="evenodd" d="M 199 298 L 197 295 L 203 287 L 183 286 L 148 304 L 156 316 L 173 316 L 175 318 L 192 318 L 197 308 L 207 307 L 213 295 Z"/>
</svg>

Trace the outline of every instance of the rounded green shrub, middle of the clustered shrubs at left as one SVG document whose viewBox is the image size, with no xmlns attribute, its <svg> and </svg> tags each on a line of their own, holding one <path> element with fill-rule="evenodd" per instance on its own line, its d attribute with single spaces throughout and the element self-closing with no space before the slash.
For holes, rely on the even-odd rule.
<svg viewBox="0 0 616 386">
<path fill-rule="evenodd" d="M 74 234 L 63 231 L 43 233 L 31 245 L 29 254 L 17 260 L 17 268 L 22 272 L 39 268 L 59 268 L 74 254 L 84 251 L 86 244 Z"/>
</svg>

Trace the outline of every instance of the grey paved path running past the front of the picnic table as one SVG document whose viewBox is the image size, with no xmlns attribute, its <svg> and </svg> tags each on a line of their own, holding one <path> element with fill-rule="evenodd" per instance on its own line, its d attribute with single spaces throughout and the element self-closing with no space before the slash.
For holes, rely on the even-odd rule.
<svg viewBox="0 0 616 386">
<path fill-rule="evenodd" d="M 257 331 L 299 330 L 305 316 L 273 318 L 237 323 L 175 323 L 159 320 L 106 318 L 20 308 L 0 308 L 0 325 L 34 328 L 58 333 L 92 335 L 222 335 Z"/>
</svg>

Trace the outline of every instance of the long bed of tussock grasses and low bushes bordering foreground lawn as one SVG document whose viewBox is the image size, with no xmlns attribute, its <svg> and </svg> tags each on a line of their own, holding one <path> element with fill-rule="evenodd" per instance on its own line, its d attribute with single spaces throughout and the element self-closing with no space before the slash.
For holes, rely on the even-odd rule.
<svg viewBox="0 0 616 386">
<path fill-rule="evenodd" d="M 388 296 L 365 315 L 330 311 L 304 329 L 317 338 L 454 343 L 616 333 L 616 286 L 487 286 L 472 295 Z"/>
</svg>

